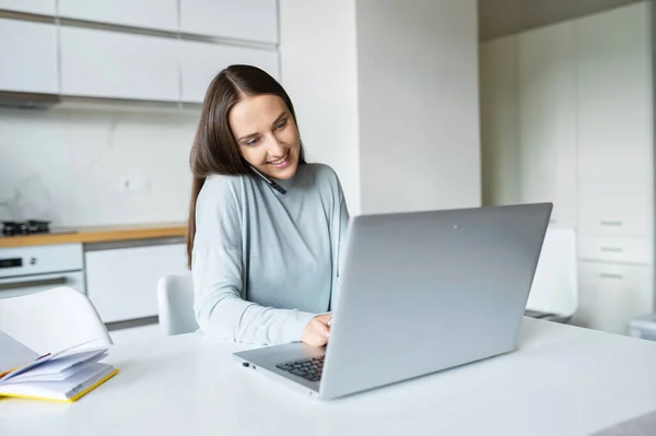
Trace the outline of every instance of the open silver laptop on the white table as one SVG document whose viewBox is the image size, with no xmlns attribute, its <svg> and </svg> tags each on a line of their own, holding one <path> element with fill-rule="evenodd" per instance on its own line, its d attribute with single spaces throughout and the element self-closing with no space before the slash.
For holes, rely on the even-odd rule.
<svg viewBox="0 0 656 436">
<path fill-rule="evenodd" d="M 515 350 L 551 203 L 355 216 L 325 347 L 235 353 L 321 400 Z"/>
</svg>

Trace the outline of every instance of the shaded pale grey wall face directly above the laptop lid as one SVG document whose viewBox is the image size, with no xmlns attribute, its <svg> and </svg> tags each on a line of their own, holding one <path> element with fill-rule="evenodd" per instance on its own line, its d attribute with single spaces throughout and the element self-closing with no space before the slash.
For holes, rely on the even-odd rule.
<svg viewBox="0 0 656 436">
<path fill-rule="evenodd" d="M 358 0 L 363 213 L 481 202 L 476 0 Z"/>
</svg>

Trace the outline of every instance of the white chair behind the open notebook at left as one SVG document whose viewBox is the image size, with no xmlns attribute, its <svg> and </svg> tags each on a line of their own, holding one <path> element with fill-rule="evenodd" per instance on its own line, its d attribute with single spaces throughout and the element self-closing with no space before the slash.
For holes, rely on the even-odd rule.
<svg viewBox="0 0 656 436">
<path fill-rule="evenodd" d="M 0 298 L 0 330 L 37 353 L 112 344 L 93 304 L 68 286 Z"/>
</svg>

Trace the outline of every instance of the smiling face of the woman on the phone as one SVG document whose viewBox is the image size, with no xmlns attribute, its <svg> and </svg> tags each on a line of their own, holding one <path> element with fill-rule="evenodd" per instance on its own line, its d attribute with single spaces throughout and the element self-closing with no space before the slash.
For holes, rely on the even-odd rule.
<svg viewBox="0 0 656 436">
<path fill-rule="evenodd" d="M 294 176 L 301 138 L 286 105 L 277 95 L 244 97 L 230 113 L 230 126 L 242 156 L 277 179 Z"/>
</svg>

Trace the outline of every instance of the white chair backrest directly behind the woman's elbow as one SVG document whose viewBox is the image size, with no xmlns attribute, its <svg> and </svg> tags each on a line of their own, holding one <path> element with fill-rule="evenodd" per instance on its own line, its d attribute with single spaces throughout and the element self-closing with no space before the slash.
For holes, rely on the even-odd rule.
<svg viewBox="0 0 656 436">
<path fill-rule="evenodd" d="M 157 283 L 160 328 L 166 335 L 198 330 L 194 313 L 194 281 L 191 274 L 167 274 Z"/>
</svg>

